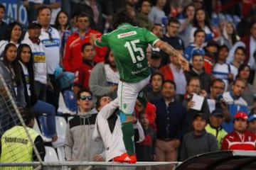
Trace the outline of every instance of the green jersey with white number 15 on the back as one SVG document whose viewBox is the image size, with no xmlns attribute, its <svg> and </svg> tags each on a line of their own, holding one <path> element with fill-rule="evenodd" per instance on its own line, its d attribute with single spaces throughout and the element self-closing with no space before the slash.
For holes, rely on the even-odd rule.
<svg viewBox="0 0 256 170">
<path fill-rule="evenodd" d="M 149 77 L 146 48 L 159 40 L 146 28 L 123 23 L 111 33 L 102 35 L 95 45 L 107 46 L 113 52 L 119 76 L 122 81 L 137 83 Z"/>
</svg>

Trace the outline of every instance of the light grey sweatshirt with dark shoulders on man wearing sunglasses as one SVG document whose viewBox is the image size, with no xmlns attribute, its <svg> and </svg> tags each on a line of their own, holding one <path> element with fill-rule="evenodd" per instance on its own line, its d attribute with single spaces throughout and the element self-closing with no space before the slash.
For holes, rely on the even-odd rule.
<svg viewBox="0 0 256 170">
<path fill-rule="evenodd" d="M 81 113 L 68 121 L 65 136 L 65 157 L 72 161 L 93 161 L 96 154 L 102 154 L 102 140 L 95 142 L 92 140 L 92 133 L 95 129 L 95 120 L 97 111 L 93 108 L 91 111 Z"/>
</svg>

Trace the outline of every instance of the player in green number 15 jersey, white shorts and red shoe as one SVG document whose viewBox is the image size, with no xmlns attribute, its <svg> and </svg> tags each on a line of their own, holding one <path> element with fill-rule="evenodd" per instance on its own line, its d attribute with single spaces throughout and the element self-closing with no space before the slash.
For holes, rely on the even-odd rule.
<svg viewBox="0 0 256 170">
<path fill-rule="evenodd" d="M 176 52 L 171 45 L 159 40 L 146 28 L 133 26 L 133 23 L 134 19 L 129 16 L 127 11 L 123 10 L 114 15 L 112 25 L 115 30 L 102 35 L 100 39 L 97 39 L 93 34 L 90 35 L 90 42 L 93 45 L 110 47 L 114 54 L 114 61 L 117 64 L 120 77 L 117 89 L 119 116 L 122 122 L 124 146 L 127 149 L 127 153 L 116 157 L 114 161 L 132 164 L 137 162 L 132 141 L 134 135 L 132 113 L 139 91 L 149 83 L 150 78 L 150 69 L 146 60 L 146 47 L 150 44 L 159 47 L 168 55 L 178 57 L 181 67 L 188 70 L 187 60 Z"/>
</svg>

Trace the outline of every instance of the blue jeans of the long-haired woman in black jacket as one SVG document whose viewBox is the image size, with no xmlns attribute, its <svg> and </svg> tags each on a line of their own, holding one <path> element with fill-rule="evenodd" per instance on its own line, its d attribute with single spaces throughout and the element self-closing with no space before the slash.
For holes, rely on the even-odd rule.
<svg viewBox="0 0 256 170">
<path fill-rule="evenodd" d="M 33 106 L 33 110 L 35 111 L 36 115 L 44 115 L 46 114 L 47 120 L 47 127 L 50 131 L 50 136 L 53 137 L 57 135 L 56 133 L 56 125 L 55 125 L 55 108 L 49 103 L 44 101 L 37 101 L 36 104 Z"/>
</svg>

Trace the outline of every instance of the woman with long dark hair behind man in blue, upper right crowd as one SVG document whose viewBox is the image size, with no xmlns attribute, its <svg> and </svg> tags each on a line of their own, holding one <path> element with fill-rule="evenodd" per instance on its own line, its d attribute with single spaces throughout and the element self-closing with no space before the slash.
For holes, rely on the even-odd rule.
<svg viewBox="0 0 256 170">
<path fill-rule="evenodd" d="M 206 42 L 213 40 L 213 30 L 210 27 L 210 20 L 203 8 L 198 8 L 196 10 L 195 17 L 193 18 L 193 28 L 191 29 L 190 34 L 191 43 L 194 42 L 193 35 L 198 28 L 201 28 L 206 32 Z"/>
</svg>

